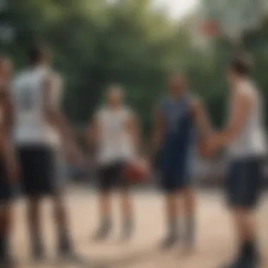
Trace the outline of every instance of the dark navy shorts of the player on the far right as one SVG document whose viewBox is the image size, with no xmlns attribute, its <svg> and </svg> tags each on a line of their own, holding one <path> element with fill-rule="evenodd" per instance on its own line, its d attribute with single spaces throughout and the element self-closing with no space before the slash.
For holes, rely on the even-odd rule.
<svg viewBox="0 0 268 268">
<path fill-rule="evenodd" d="M 226 176 L 226 199 L 231 207 L 254 208 L 263 188 L 263 159 L 230 162 Z"/>
</svg>

